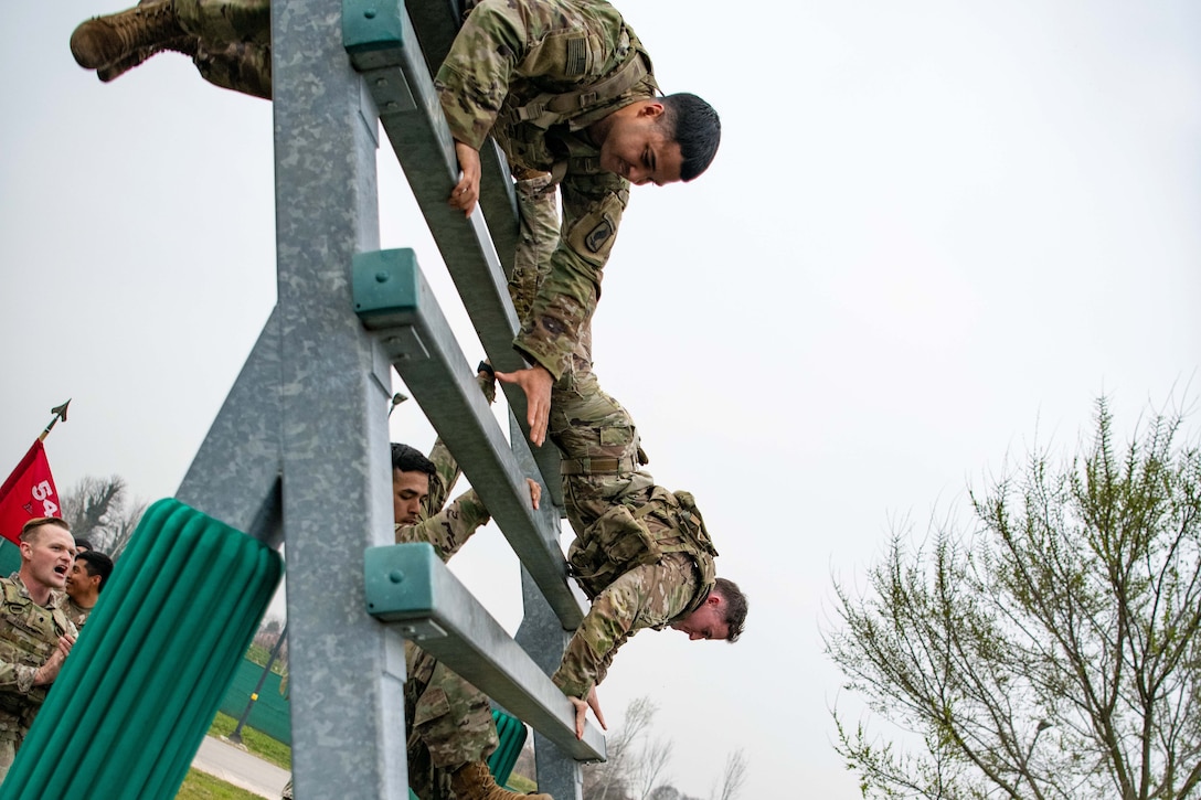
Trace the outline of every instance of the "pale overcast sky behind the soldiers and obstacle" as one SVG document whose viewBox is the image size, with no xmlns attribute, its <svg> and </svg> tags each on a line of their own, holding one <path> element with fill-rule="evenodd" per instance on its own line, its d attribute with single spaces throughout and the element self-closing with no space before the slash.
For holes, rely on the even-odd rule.
<svg viewBox="0 0 1201 800">
<path fill-rule="evenodd" d="M 752 611 L 734 646 L 637 637 L 600 698 L 611 723 L 659 703 L 689 794 L 745 747 L 745 796 L 849 800 L 831 579 L 1035 442 L 1072 449 L 1099 394 L 1123 434 L 1196 396 L 1201 6 L 619 6 L 663 88 L 709 98 L 724 137 L 694 184 L 634 190 L 597 372 Z M 73 398 L 47 441 L 60 490 L 116 473 L 154 500 L 275 302 L 271 109 L 173 54 L 100 84 L 67 40 L 115 10 L 0 12 L 0 470 Z M 383 246 L 417 249 L 478 358 L 390 150 L 380 165 Z M 432 442 L 413 404 L 392 426 Z M 500 533 L 454 567 L 515 629 Z"/>
</svg>

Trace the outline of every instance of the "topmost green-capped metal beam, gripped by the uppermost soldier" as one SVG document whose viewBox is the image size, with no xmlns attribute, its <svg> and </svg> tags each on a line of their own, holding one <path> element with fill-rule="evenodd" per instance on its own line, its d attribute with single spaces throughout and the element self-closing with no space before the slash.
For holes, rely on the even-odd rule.
<svg viewBox="0 0 1201 800">
<path fill-rule="evenodd" d="M 491 229 L 485 214 L 476 213 L 465 220 L 462 213 L 447 205 L 458 181 L 459 161 L 413 23 L 400 0 L 343 0 L 342 42 L 351 64 L 363 73 L 380 112 L 380 123 L 489 362 L 500 371 L 522 369 L 525 360 L 513 350 L 516 314 L 506 280 L 506 271 L 512 270 L 512 251 L 507 251 L 502 262 L 492 245 L 492 237 L 501 228 L 512 228 L 516 235 L 516 202 L 507 171 L 503 179 L 508 208 L 500 215 L 485 210 L 492 222 Z M 490 149 L 495 149 L 491 143 L 482 157 Z M 500 172 L 492 168 L 485 174 L 495 177 Z M 528 440 L 525 394 L 512 384 L 501 384 L 501 388 Z M 562 506 L 557 450 L 544 446 L 533 454 L 551 500 Z"/>
</svg>

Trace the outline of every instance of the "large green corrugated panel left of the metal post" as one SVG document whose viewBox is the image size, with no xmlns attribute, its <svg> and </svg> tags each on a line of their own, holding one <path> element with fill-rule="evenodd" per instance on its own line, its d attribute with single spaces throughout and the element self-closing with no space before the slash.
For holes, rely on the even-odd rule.
<svg viewBox="0 0 1201 800">
<path fill-rule="evenodd" d="M 175 796 L 282 571 L 223 523 L 177 500 L 151 506 L 0 800 Z"/>
</svg>

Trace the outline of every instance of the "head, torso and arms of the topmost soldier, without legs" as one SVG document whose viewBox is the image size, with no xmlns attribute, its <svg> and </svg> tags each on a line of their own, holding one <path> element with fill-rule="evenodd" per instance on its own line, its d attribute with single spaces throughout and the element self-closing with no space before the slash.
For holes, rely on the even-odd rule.
<svg viewBox="0 0 1201 800">
<path fill-rule="evenodd" d="M 491 135 L 519 169 L 552 175 L 562 235 L 514 346 L 530 441 L 542 444 L 550 386 L 600 297 L 629 185 L 692 180 L 712 161 L 717 113 L 695 95 L 658 96 L 645 48 L 603 0 L 482 0 L 435 79 L 464 177 L 450 205 L 471 213 Z"/>
</svg>

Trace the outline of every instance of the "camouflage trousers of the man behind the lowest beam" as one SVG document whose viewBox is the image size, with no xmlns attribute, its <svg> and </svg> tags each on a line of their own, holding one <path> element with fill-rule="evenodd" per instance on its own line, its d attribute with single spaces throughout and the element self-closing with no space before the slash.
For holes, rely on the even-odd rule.
<svg viewBox="0 0 1201 800">
<path fill-rule="evenodd" d="M 412 641 L 405 643 L 408 784 L 422 800 L 454 796 L 450 774 L 492 754 L 492 710 L 479 689 Z"/>
</svg>

